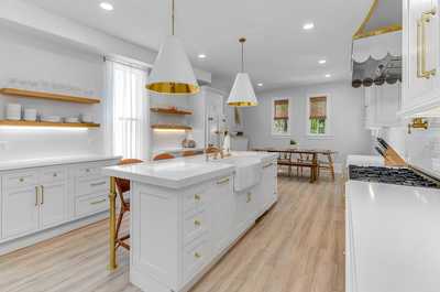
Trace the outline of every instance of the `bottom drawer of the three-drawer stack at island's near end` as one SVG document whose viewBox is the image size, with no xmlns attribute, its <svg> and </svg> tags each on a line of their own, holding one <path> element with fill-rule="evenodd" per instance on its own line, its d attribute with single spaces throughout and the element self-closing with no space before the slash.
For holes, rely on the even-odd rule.
<svg viewBox="0 0 440 292">
<path fill-rule="evenodd" d="M 209 259 L 209 244 L 207 237 L 201 237 L 184 249 L 184 277 L 194 277 Z"/>
</svg>

